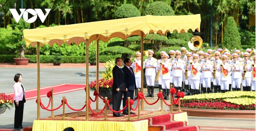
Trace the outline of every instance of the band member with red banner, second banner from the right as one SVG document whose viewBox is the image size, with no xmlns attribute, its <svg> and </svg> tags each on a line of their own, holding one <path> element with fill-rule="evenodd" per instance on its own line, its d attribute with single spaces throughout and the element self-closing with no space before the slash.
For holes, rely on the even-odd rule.
<svg viewBox="0 0 256 131">
<path fill-rule="evenodd" d="M 231 67 L 230 67 L 230 64 L 227 63 L 227 59 L 228 59 L 228 56 L 226 55 L 222 55 L 221 56 L 222 58 L 222 62 L 223 64 L 222 67 L 220 66 L 217 71 L 220 72 L 220 90 L 221 90 L 221 93 L 225 93 L 225 92 L 228 92 L 229 90 L 229 74 L 228 72 L 231 71 Z"/>
</svg>

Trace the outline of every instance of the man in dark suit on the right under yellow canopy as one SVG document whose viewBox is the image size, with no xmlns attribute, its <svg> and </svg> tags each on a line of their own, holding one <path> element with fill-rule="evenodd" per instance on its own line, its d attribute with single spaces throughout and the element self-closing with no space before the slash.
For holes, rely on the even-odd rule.
<svg viewBox="0 0 256 131">
<path fill-rule="evenodd" d="M 124 67 L 122 68 L 124 72 L 124 77 L 126 80 L 126 89 L 124 90 L 124 98 L 123 98 L 123 108 L 126 106 L 126 100 L 130 97 L 133 100 L 134 89 L 136 89 L 135 77 L 133 69 L 130 67 L 132 65 L 132 61 L 129 58 L 124 59 Z M 130 111 L 130 114 L 135 114 Z M 128 115 L 128 107 L 123 110 L 123 115 Z"/>
</svg>

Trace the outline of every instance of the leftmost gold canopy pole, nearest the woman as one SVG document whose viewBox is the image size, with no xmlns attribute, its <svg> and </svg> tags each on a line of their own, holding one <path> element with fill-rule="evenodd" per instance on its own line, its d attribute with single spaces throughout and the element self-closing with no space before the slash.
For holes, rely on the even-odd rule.
<svg viewBox="0 0 256 131">
<path fill-rule="evenodd" d="M 37 119 L 40 119 L 40 44 L 37 42 Z"/>
</svg>

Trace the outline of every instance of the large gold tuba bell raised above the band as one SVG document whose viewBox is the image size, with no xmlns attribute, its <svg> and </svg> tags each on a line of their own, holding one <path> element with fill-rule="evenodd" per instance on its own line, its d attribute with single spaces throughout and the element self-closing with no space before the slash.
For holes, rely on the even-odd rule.
<svg viewBox="0 0 256 131">
<path fill-rule="evenodd" d="M 203 45 L 203 40 L 200 36 L 193 36 L 188 41 L 188 47 L 192 51 L 199 50 Z"/>
</svg>

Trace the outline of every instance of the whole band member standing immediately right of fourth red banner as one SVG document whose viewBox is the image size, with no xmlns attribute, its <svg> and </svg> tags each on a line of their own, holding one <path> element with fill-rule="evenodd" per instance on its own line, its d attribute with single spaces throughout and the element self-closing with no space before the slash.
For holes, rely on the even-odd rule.
<svg viewBox="0 0 256 131">
<path fill-rule="evenodd" d="M 233 62 L 231 62 L 231 80 L 232 80 L 232 90 L 241 90 L 241 83 L 242 83 L 242 70 L 243 70 L 243 65 L 241 62 L 238 61 L 238 54 L 233 53 Z"/>
</svg>

